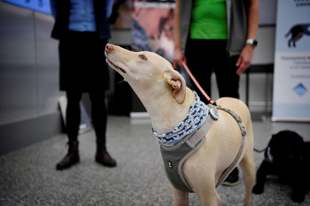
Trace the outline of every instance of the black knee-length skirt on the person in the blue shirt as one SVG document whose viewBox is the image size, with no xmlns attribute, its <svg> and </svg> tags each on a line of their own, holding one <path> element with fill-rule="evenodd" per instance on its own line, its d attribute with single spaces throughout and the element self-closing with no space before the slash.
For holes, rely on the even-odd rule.
<svg viewBox="0 0 310 206">
<path fill-rule="evenodd" d="M 108 64 L 104 48 L 107 39 L 97 32 L 68 31 L 59 41 L 59 85 L 63 91 L 88 92 L 109 88 Z"/>
</svg>

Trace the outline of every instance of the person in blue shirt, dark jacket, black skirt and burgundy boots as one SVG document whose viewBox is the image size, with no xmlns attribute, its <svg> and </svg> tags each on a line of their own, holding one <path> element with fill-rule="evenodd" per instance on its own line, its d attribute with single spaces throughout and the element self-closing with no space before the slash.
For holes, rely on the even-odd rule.
<svg viewBox="0 0 310 206">
<path fill-rule="evenodd" d="M 104 48 L 111 36 L 108 17 L 113 0 L 50 0 L 50 3 L 55 18 L 51 36 L 59 40 L 59 86 L 68 99 L 68 154 L 56 169 L 63 170 L 79 162 L 79 102 L 83 92 L 89 93 L 92 102 L 97 138 L 95 160 L 105 166 L 116 166 L 106 149 L 105 91 L 109 88 L 109 74 L 104 58 Z"/>
</svg>

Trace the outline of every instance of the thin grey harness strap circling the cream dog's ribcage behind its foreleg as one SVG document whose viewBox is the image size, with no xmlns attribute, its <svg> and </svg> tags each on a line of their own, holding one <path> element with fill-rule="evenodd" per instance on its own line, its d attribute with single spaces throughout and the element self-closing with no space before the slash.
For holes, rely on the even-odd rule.
<svg viewBox="0 0 310 206">
<path fill-rule="evenodd" d="M 243 151 L 244 137 L 247 134 L 247 131 L 246 131 L 245 127 L 243 127 L 242 124 L 241 124 L 241 122 L 242 122 L 241 118 L 236 113 L 234 113 L 230 109 L 224 109 L 224 108 L 221 108 L 221 107 L 218 107 L 218 109 L 222 109 L 222 110 L 228 112 L 229 114 L 231 114 L 236 119 L 236 121 L 237 121 L 237 123 L 238 123 L 238 125 L 240 127 L 240 130 L 241 130 L 242 140 L 241 140 L 241 145 L 240 145 L 239 151 L 237 153 L 237 156 L 232 161 L 232 163 L 229 165 L 229 167 L 226 170 L 224 170 L 224 172 L 221 175 L 221 177 L 217 180 L 217 184 L 215 185 L 215 188 L 217 188 L 217 186 L 220 185 L 225 180 L 227 175 L 232 171 L 233 167 L 237 164 L 237 162 L 238 162 L 238 160 L 239 160 L 239 158 L 240 158 L 240 156 L 242 154 L 242 151 Z"/>
</svg>

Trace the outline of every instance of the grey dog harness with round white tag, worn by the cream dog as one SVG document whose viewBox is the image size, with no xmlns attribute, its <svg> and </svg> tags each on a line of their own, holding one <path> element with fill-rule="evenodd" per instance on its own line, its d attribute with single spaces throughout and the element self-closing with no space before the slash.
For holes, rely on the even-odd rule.
<svg viewBox="0 0 310 206">
<path fill-rule="evenodd" d="M 229 165 L 229 167 L 226 170 L 224 170 L 221 177 L 217 180 L 217 184 L 215 187 L 221 184 L 222 181 L 226 178 L 226 176 L 230 173 L 232 168 L 236 165 L 237 161 L 239 160 L 241 153 L 243 151 L 244 137 L 247 132 L 245 127 L 243 127 L 241 124 L 242 122 L 241 118 L 236 113 L 232 112 L 230 109 L 221 108 L 220 106 L 216 107 L 213 106 L 212 104 L 209 104 L 208 106 L 210 107 L 210 113 L 205 123 L 197 130 L 197 132 L 193 132 L 187 135 L 185 138 L 183 138 L 182 141 L 180 141 L 175 146 L 167 147 L 160 144 L 160 151 L 163 157 L 165 173 L 170 183 L 175 188 L 182 191 L 190 193 L 194 192 L 183 176 L 182 165 L 190 155 L 192 155 L 195 151 L 197 151 L 200 148 L 200 146 L 202 146 L 203 142 L 205 141 L 205 135 L 211 128 L 214 121 L 218 119 L 217 109 L 226 111 L 236 119 L 241 130 L 242 140 L 237 156 L 235 157 L 231 165 Z"/>
</svg>

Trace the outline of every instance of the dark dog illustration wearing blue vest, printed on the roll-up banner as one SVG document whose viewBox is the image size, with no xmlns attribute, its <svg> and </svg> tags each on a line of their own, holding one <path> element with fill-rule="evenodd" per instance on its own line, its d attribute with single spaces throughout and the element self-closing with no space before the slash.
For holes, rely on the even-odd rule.
<svg viewBox="0 0 310 206">
<path fill-rule="evenodd" d="M 290 34 L 292 34 L 292 36 L 288 40 L 288 47 L 291 47 L 291 43 L 296 47 L 296 41 L 298 41 L 303 35 L 310 35 L 310 23 L 294 25 L 290 31 L 287 32 L 285 37 L 287 38 Z"/>
</svg>

